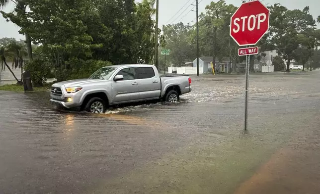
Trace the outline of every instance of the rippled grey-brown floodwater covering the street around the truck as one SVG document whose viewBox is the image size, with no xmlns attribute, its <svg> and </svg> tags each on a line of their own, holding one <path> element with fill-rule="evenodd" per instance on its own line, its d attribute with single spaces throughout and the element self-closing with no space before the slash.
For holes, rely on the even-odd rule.
<svg viewBox="0 0 320 194">
<path fill-rule="evenodd" d="M 0 91 L 1 194 L 319 194 L 320 72 L 192 77 L 178 104 L 52 109 Z"/>
</svg>

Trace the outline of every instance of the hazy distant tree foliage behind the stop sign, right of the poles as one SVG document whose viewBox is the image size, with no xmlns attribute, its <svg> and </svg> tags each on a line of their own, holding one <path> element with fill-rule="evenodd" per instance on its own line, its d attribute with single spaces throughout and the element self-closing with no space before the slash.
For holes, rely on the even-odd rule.
<svg viewBox="0 0 320 194">
<path fill-rule="evenodd" d="M 200 56 L 214 56 L 218 60 L 228 57 L 235 66 L 244 60 L 243 57 L 238 56 L 239 47 L 229 36 L 230 18 L 236 9 L 236 6 L 227 4 L 225 0 L 212 1 L 199 15 Z M 269 6 L 269 9 L 271 11 L 270 30 L 257 45 L 260 54 L 250 56 L 250 70 L 253 69 L 254 59 L 261 59 L 265 56 L 264 52 L 268 50 L 276 50 L 279 56 L 286 60 L 295 58 L 302 64 L 306 63 L 316 45 L 320 46 L 320 30 L 315 29 L 316 21 L 309 13 L 309 7 L 303 10 L 289 10 L 277 3 Z M 196 58 L 196 30 L 195 26 L 188 26 L 188 24 L 177 23 L 163 27 L 165 48 L 171 49 L 167 60 L 171 63 L 193 61 Z M 182 57 L 177 60 L 174 56 Z M 236 70 L 236 68 L 233 69 Z M 282 67 L 281 70 L 283 70 Z"/>
</svg>

